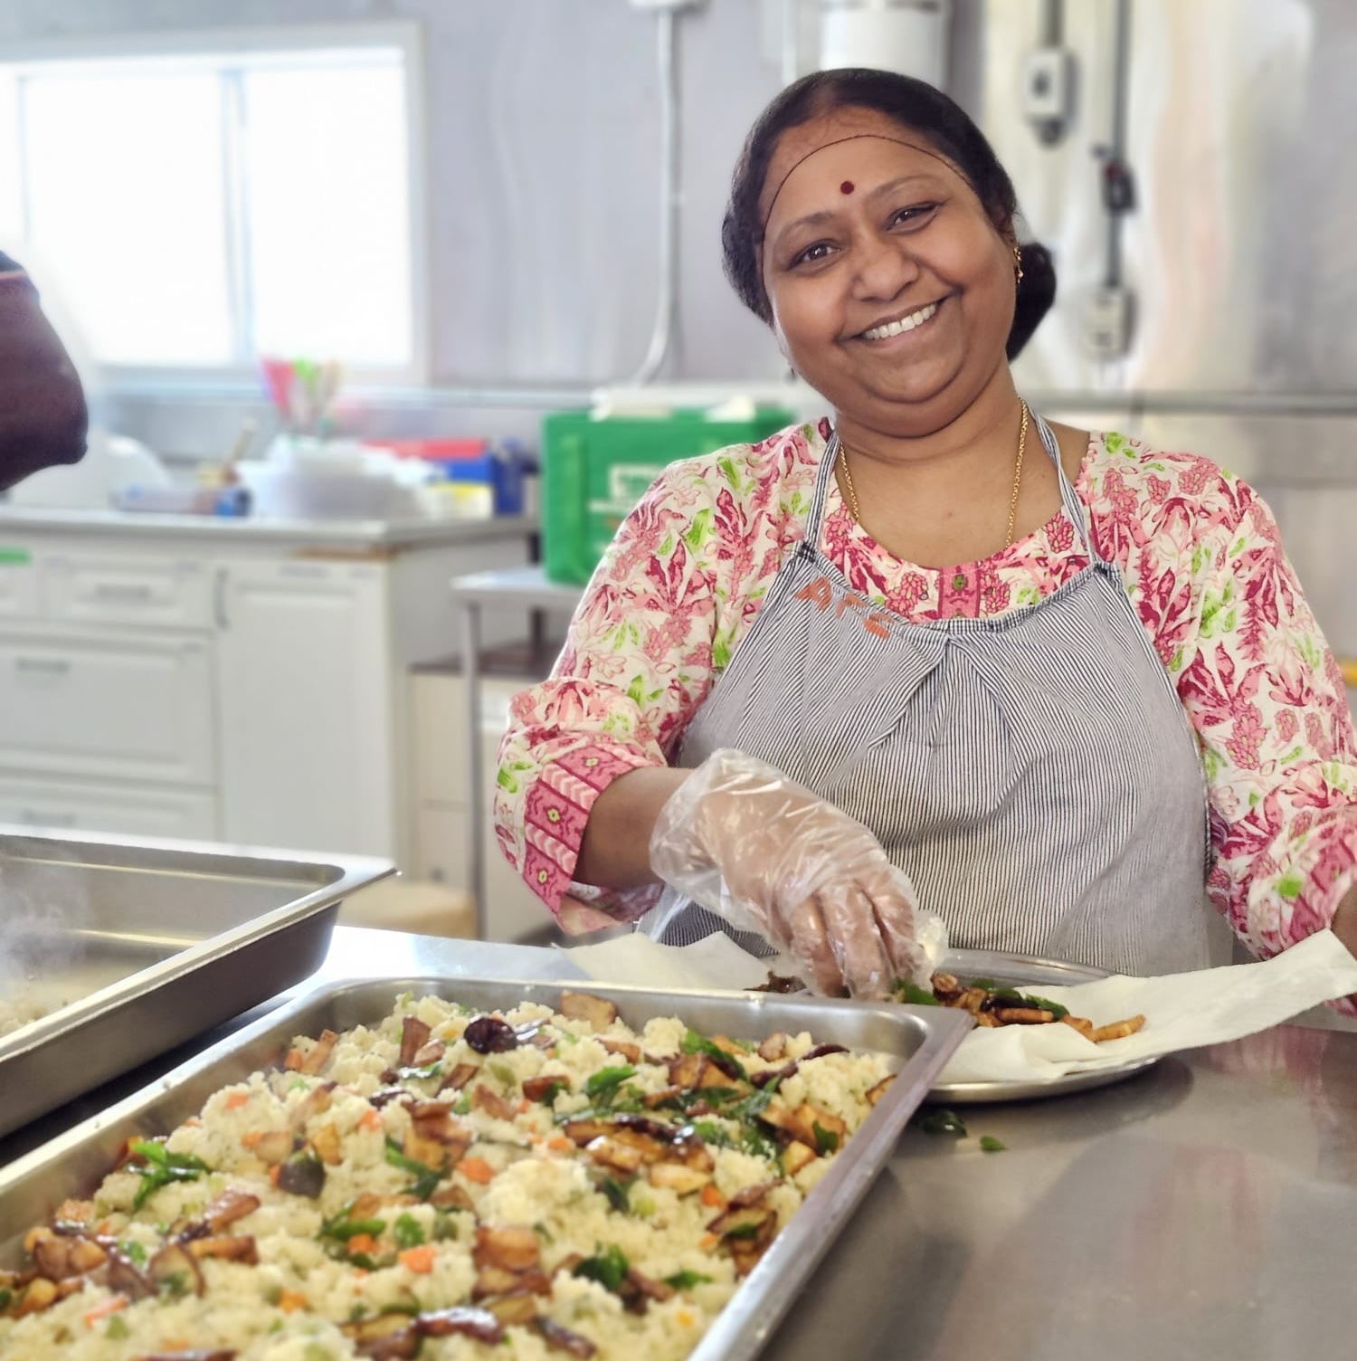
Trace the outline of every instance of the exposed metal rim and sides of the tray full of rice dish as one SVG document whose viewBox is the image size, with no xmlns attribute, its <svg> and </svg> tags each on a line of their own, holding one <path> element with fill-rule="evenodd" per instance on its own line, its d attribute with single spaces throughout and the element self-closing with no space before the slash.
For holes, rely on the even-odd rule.
<svg viewBox="0 0 1357 1361">
<path fill-rule="evenodd" d="M 339 984 L 301 998 L 0 1170 L 0 1268 L 18 1266 L 26 1228 L 49 1215 L 65 1196 L 87 1195 L 98 1184 L 117 1161 L 124 1141 L 137 1134 L 169 1132 L 196 1115 L 218 1087 L 276 1064 L 297 1034 L 320 1034 L 327 1026 L 344 1030 L 370 1025 L 387 1015 L 395 998 L 406 991 L 416 996 L 437 994 L 489 1010 L 521 1002 L 555 1007 L 562 988 L 580 987 L 578 980 L 382 979 Z M 592 983 L 583 987 L 611 998 L 622 1019 L 636 1028 L 652 1017 L 678 1015 L 704 1033 L 745 1040 L 762 1040 L 776 1030 L 810 1030 L 821 1043 L 875 1049 L 898 1063 L 898 1077 L 887 1094 L 689 1358 L 749 1361 L 762 1350 L 774 1324 L 885 1166 L 911 1113 L 970 1028 L 970 1018 L 943 1009 L 863 1006 L 768 994 L 660 992 Z"/>
</svg>

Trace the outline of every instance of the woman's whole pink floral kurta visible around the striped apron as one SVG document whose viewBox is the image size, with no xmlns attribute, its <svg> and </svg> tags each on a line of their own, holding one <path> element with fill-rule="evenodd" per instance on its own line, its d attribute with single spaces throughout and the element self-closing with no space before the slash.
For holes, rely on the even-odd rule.
<svg viewBox="0 0 1357 1361">
<path fill-rule="evenodd" d="M 610 780 L 674 754 L 804 532 L 828 436 L 826 422 L 798 426 L 667 468 L 595 573 L 551 678 L 516 697 L 500 845 L 568 927 L 652 901 L 572 886 L 589 808 Z M 1255 954 L 1275 954 L 1327 925 L 1357 881 L 1357 738 L 1277 525 L 1210 460 L 1119 434 L 1094 437 L 1075 490 L 1200 743 L 1207 891 Z M 915 623 L 1002 615 L 1088 566 L 1060 510 L 984 562 L 917 568 L 856 524 L 833 482 L 822 547 L 855 591 Z"/>
</svg>

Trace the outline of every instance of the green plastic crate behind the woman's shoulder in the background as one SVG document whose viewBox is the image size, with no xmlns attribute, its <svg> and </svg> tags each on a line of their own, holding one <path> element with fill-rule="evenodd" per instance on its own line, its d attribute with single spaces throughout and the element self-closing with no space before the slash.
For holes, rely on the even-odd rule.
<svg viewBox="0 0 1357 1361">
<path fill-rule="evenodd" d="M 754 444 L 795 415 L 759 407 L 747 421 L 709 421 L 698 408 L 595 419 L 557 411 L 542 422 L 542 536 L 553 581 L 583 584 L 618 525 L 676 459 Z"/>
</svg>

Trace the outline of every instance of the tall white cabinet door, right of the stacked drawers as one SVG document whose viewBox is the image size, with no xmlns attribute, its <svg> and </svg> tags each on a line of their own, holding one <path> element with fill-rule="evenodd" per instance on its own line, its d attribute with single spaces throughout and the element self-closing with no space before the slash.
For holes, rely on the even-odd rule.
<svg viewBox="0 0 1357 1361">
<path fill-rule="evenodd" d="M 389 853 L 397 791 L 380 569 L 238 562 L 219 570 L 225 837 Z"/>
</svg>

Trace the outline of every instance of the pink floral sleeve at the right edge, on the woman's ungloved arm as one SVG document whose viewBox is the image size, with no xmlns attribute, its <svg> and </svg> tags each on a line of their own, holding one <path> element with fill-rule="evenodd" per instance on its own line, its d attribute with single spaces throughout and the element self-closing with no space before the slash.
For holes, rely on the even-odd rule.
<svg viewBox="0 0 1357 1361">
<path fill-rule="evenodd" d="M 1357 738 L 1271 513 L 1222 482 L 1233 513 L 1194 546 L 1190 583 L 1161 580 L 1165 604 L 1191 607 L 1168 608 L 1158 641 L 1210 787 L 1207 893 L 1267 957 L 1327 927 L 1357 883 Z"/>
</svg>

